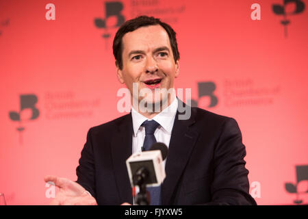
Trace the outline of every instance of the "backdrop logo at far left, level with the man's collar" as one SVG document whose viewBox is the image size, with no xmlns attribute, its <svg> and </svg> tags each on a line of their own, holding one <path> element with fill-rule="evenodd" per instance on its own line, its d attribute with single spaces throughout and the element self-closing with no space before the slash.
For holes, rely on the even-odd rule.
<svg viewBox="0 0 308 219">
<path fill-rule="evenodd" d="M 18 111 L 10 111 L 9 116 L 11 120 L 19 122 L 19 125 L 16 129 L 19 132 L 19 142 L 22 144 L 23 140 L 21 133 L 25 130 L 23 122 L 25 120 L 35 120 L 40 115 L 40 112 L 38 108 L 36 108 L 38 97 L 35 94 L 21 95 L 20 101 L 20 109 Z"/>
</svg>

